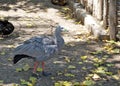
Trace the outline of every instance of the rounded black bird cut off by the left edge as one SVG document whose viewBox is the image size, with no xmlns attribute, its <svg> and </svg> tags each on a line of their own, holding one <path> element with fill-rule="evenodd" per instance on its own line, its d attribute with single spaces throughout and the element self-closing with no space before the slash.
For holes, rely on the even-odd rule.
<svg viewBox="0 0 120 86">
<path fill-rule="evenodd" d="M 14 26 L 8 20 L 0 20 L 0 35 L 7 36 L 14 31 Z"/>
</svg>

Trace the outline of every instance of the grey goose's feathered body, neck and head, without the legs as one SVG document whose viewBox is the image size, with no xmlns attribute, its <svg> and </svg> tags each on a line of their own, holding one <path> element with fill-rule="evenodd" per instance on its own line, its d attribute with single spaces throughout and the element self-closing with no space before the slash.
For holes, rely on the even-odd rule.
<svg viewBox="0 0 120 86">
<path fill-rule="evenodd" d="M 58 25 L 53 36 L 36 36 L 25 41 L 14 50 L 14 63 L 20 60 L 20 55 L 25 55 L 36 61 L 45 61 L 53 57 L 64 45 L 64 40 L 61 36 L 62 29 Z M 24 58 L 24 56 L 21 58 Z"/>
</svg>

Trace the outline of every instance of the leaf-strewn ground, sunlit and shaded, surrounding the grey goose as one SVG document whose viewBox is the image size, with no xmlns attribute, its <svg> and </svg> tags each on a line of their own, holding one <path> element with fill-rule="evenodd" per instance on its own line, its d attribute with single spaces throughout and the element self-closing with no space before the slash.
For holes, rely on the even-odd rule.
<svg viewBox="0 0 120 86">
<path fill-rule="evenodd" d="M 11 35 L 0 38 L 1 86 L 120 86 L 119 44 L 94 40 L 84 25 L 69 18 L 67 6 L 55 6 L 50 0 L 1 0 L 0 5 L 0 17 L 15 26 Z M 51 76 L 30 79 L 33 60 L 22 59 L 14 65 L 14 48 L 33 36 L 47 34 L 54 23 L 69 31 L 63 35 L 65 46 L 46 61 Z"/>
</svg>

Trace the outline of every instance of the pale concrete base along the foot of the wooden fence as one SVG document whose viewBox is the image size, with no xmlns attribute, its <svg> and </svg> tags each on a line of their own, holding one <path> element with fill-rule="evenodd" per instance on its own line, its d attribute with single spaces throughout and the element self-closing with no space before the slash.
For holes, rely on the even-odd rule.
<svg viewBox="0 0 120 86">
<path fill-rule="evenodd" d="M 68 3 L 70 9 L 73 11 L 74 17 L 78 21 L 81 21 L 91 34 L 100 39 L 107 35 L 107 32 L 100 24 L 100 21 L 87 13 L 80 3 L 74 2 L 74 0 L 69 0 Z"/>
</svg>

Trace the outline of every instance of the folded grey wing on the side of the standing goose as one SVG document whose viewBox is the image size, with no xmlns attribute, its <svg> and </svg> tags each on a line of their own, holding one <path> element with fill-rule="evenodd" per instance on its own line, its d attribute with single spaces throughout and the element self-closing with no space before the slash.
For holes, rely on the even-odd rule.
<svg viewBox="0 0 120 86">
<path fill-rule="evenodd" d="M 23 54 L 34 57 L 36 60 L 44 61 L 57 52 L 57 45 L 53 37 L 33 37 L 18 46 L 14 55 Z"/>
</svg>

